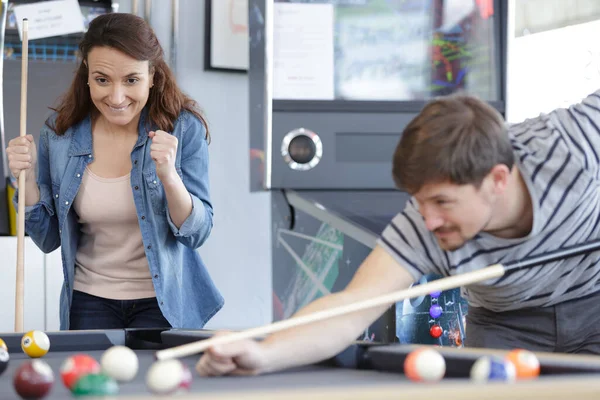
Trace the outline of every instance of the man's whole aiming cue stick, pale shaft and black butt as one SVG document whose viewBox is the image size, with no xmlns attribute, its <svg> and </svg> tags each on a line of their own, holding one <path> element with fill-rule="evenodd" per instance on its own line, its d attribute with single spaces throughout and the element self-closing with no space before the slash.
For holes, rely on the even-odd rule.
<svg viewBox="0 0 600 400">
<path fill-rule="evenodd" d="M 438 279 L 423 285 L 413 286 L 409 289 L 392 292 L 386 295 L 374 297 L 372 299 L 364 301 L 359 301 L 345 306 L 318 311 L 312 314 L 278 321 L 273 324 L 264 325 L 245 331 L 235 332 L 222 336 L 215 336 L 210 339 L 199 340 L 181 346 L 172 347 L 170 349 L 160 350 L 156 352 L 156 359 L 166 360 L 169 358 L 179 358 L 193 354 L 198 354 L 206 350 L 207 348 L 218 344 L 231 343 L 243 339 L 257 338 L 260 336 L 290 329 L 296 326 L 306 325 L 317 321 L 338 317 L 344 314 L 365 310 L 368 308 L 379 307 L 386 304 L 391 305 L 398 301 L 419 296 L 426 296 L 433 292 L 455 289 L 461 286 L 466 286 L 477 282 L 483 282 L 488 279 L 499 278 L 508 272 L 514 272 L 521 269 L 534 267 L 543 263 L 555 261 L 562 258 L 574 257 L 576 255 L 589 253 L 594 250 L 600 250 L 600 240 L 566 247 L 539 256 L 528 257 L 521 261 L 509 262 L 505 265 L 494 264 L 477 271 L 471 271 L 464 274 L 449 276 L 447 278 Z"/>
</svg>

